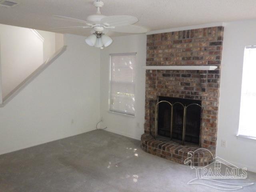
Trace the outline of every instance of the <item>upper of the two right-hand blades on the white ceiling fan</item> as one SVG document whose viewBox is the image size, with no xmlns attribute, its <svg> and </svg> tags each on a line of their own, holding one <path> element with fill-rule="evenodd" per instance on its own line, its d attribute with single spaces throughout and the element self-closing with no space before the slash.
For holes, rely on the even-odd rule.
<svg viewBox="0 0 256 192">
<path fill-rule="evenodd" d="M 131 25 L 136 22 L 138 22 L 138 18 L 134 16 L 128 16 L 128 15 L 114 15 L 114 16 L 108 16 L 102 18 L 100 20 L 102 24 L 105 24 L 106 26 L 126 26 Z"/>
</svg>

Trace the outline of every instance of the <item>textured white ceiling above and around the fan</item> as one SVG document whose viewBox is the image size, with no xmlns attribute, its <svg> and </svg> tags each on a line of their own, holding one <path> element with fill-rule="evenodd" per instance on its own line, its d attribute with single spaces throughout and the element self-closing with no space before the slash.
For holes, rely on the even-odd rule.
<svg viewBox="0 0 256 192">
<path fill-rule="evenodd" d="M 95 14 L 92 0 L 15 0 L 13 8 L 0 7 L 0 23 L 48 30 L 64 26 L 79 26 L 73 22 L 56 20 L 52 15 L 85 20 Z M 102 14 L 131 15 L 136 25 L 148 30 L 192 26 L 212 22 L 226 22 L 256 18 L 256 0 L 103 0 Z M 88 29 L 65 29 L 54 32 L 88 35 Z M 120 33 L 109 33 L 118 36 Z"/>
</svg>

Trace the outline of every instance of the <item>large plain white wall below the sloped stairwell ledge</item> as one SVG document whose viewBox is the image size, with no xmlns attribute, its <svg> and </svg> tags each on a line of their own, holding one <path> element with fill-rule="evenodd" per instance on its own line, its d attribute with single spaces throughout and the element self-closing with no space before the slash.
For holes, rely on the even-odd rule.
<svg viewBox="0 0 256 192">
<path fill-rule="evenodd" d="M 66 35 L 66 42 L 66 52 L 0 108 L 0 154 L 95 129 L 100 52 L 81 36 Z"/>
</svg>

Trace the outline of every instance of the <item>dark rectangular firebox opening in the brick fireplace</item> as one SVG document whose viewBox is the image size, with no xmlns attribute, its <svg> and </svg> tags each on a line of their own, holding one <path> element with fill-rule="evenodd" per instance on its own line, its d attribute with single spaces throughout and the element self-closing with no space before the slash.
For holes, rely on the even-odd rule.
<svg viewBox="0 0 256 192">
<path fill-rule="evenodd" d="M 158 104 L 157 134 L 180 141 L 183 144 L 199 146 L 201 101 L 159 96 L 158 102 L 160 103 Z M 168 102 L 172 104 L 172 107 Z M 184 108 L 186 109 L 184 110 Z"/>
</svg>

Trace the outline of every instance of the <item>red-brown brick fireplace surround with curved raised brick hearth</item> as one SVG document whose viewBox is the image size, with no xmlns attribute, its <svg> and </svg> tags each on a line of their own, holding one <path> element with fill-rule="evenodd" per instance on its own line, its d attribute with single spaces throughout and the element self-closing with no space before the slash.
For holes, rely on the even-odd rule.
<svg viewBox="0 0 256 192">
<path fill-rule="evenodd" d="M 216 70 L 146 70 L 145 133 L 142 149 L 150 154 L 184 163 L 189 151 L 216 150 L 220 64 L 224 28 L 222 26 L 183 30 L 147 36 L 146 66 L 217 66 Z M 175 140 L 154 139 L 155 104 L 159 97 L 200 101 L 204 108 L 199 146 Z M 154 135 L 154 134 L 153 134 Z M 194 165 L 211 162 L 206 150 L 194 154 Z"/>
</svg>

